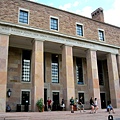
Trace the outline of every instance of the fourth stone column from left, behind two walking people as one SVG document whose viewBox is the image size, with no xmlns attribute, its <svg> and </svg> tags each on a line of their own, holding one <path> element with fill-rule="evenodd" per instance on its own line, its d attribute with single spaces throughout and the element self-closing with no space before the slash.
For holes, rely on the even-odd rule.
<svg viewBox="0 0 120 120">
<path fill-rule="evenodd" d="M 98 106 L 99 106 L 99 108 L 101 108 L 96 51 L 95 50 L 88 50 L 86 59 L 87 59 L 87 77 L 88 77 L 89 100 L 91 97 L 97 98 Z"/>
</svg>

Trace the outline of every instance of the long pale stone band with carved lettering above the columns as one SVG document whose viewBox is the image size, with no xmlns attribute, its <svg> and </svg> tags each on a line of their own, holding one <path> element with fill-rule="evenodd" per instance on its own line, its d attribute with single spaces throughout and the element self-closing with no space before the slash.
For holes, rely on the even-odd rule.
<svg viewBox="0 0 120 120">
<path fill-rule="evenodd" d="M 100 43 L 97 41 L 88 40 L 85 38 L 79 38 L 75 36 L 69 36 L 52 31 L 37 29 L 29 26 L 23 26 L 19 24 L 12 24 L 0 21 L 0 33 L 9 35 L 18 35 L 23 37 L 30 37 L 41 41 L 57 42 L 69 46 L 78 46 L 87 49 L 96 49 L 100 51 L 107 51 L 118 54 L 119 46 L 109 45 L 106 43 Z"/>
</svg>

